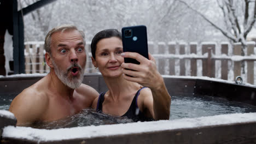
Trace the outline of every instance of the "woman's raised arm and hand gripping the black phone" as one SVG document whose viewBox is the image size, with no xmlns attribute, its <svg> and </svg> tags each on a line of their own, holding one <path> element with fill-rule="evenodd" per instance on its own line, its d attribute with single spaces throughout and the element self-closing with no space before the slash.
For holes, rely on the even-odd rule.
<svg viewBox="0 0 256 144">
<path fill-rule="evenodd" d="M 125 52 L 124 57 L 134 58 L 140 64 L 123 63 L 124 79 L 137 82 L 144 87 L 149 87 L 149 92 L 144 97 L 144 106 L 149 110 L 154 119 L 169 119 L 171 96 L 165 87 L 164 79 L 156 69 L 155 59 L 149 54 L 149 59 L 135 52 Z M 129 70 L 131 69 L 131 70 Z M 131 75 L 131 76 L 127 76 Z M 144 94 L 143 94 L 144 95 Z M 150 97 L 153 97 L 153 99 Z"/>
</svg>

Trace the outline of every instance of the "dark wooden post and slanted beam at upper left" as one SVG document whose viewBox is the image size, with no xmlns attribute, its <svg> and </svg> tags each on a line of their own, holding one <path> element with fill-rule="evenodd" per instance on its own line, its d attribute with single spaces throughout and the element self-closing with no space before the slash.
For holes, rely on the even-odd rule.
<svg viewBox="0 0 256 144">
<path fill-rule="evenodd" d="M 31 11 L 43 7 L 45 4 L 56 0 L 41 0 L 22 8 L 18 11 L 17 0 L 1 0 L 0 4 L 0 75 L 6 75 L 5 72 L 5 57 L 4 57 L 4 34 L 6 29 L 13 35 L 13 64 L 10 64 L 10 69 L 14 70 L 14 74 L 25 73 L 25 58 L 24 58 L 24 21 L 23 16 Z"/>
</svg>

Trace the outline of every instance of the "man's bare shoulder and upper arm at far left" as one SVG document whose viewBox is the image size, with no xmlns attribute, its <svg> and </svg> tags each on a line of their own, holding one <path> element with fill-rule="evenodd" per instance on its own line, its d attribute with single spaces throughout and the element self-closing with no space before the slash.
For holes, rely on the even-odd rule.
<svg viewBox="0 0 256 144">
<path fill-rule="evenodd" d="M 14 113 L 17 125 L 29 126 L 40 120 L 47 104 L 47 97 L 25 89 L 11 102 L 9 111 Z"/>
</svg>

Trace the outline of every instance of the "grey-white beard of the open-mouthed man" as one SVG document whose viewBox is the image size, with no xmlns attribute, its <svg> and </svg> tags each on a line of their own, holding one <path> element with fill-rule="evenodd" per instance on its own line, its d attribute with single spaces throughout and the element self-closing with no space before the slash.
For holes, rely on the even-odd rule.
<svg viewBox="0 0 256 144">
<path fill-rule="evenodd" d="M 79 76 L 73 76 L 73 77 L 71 77 L 71 79 L 68 79 L 69 68 L 74 67 L 74 64 L 71 65 L 69 68 L 67 68 L 66 71 L 64 71 L 64 70 L 61 70 L 57 66 L 57 64 L 54 62 L 54 60 L 52 62 L 54 65 L 55 74 L 61 80 L 62 83 L 64 83 L 66 86 L 68 86 L 72 89 L 78 88 L 81 85 L 81 83 L 84 79 L 84 69 L 80 65 L 76 64 L 76 66 L 79 67 L 81 70 L 81 73 L 79 74 Z"/>
</svg>

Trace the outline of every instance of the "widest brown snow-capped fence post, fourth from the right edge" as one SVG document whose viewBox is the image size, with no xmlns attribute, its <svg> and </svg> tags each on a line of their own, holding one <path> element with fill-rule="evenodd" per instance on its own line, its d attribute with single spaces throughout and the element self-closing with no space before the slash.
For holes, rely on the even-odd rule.
<svg viewBox="0 0 256 144">
<path fill-rule="evenodd" d="M 202 43 L 202 55 L 208 52 L 208 49 L 212 50 L 212 53 L 215 54 L 215 45 L 214 43 Z M 211 67 L 211 68 L 208 68 Z M 208 71 L 211 69 L 211 71 Z M 209 75 L 208 75 L 209 74 Z M 202 75 L 215 77 L 215 60 L 211 59 L 211 65 L 208 65 L 207 59 L 202 60 Z"/>
</svg>

